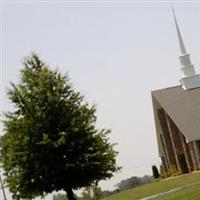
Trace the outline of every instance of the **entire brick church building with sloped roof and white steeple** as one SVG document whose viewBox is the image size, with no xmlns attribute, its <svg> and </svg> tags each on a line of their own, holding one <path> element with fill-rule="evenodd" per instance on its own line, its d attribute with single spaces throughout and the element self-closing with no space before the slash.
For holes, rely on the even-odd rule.
<svg viewBox="0 0 200 200">
<path fill-rule="evenodd" d="M 200 75 L 195 72 L 177 23 L 180 85 L 152 91 L 159 156 L 165 172 L 200 170 Z M 185 165 L 183 167 L 183 164 Z"/>
</svg>

